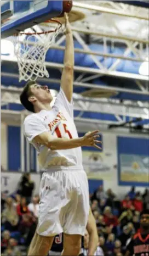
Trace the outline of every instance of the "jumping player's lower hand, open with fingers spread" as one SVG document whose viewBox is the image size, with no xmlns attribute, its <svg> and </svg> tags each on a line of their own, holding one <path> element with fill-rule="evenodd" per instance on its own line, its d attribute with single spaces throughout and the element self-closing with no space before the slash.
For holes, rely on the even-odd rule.
<svg viewBox="0 0 149 256">
<path fill-rule="evenodd" d="M 98 138 L 100 137 L 98 133 L 99 130 L 87 132 L 83 137 L 83 146 L 92 146 L 101 149 L 101 147 L 98 146 L 98 144 L 102 143 L 101 141 L 98 140 Z"/>
</svg>

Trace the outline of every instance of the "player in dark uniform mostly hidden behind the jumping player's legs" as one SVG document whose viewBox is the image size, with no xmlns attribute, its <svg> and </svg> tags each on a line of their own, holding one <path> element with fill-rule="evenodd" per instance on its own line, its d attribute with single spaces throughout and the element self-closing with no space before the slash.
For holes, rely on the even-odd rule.
<svg viewBox="0 0 149 256">
<path fill-rule="evenodd" d="M 87 222 L 87 230 L 85 231 L 85 235 L 89 236 L 89 242 L 88 242 L 88 255 L 94 255 L 96 248 L 98 246 L 98 232 L 96 228 L 96 222 L 95 218 L 93 216 L 93 213 L 91 212 L 91 209 L 89 209 L 89 216 L 88 216 L 88 222 Z M 84 235 L 84 239 L 85 239 Z M 53 241 L 53 245 L 51 247 L 51 250 L 49 252 L 49 255 L 60 255 L 63 250 L 63 233 L 56 236 Z M 83 245 L 83 237 L 82 237 L 82 249 L 81 254 L 84 251 L 84 245 Z"/>
</svg>

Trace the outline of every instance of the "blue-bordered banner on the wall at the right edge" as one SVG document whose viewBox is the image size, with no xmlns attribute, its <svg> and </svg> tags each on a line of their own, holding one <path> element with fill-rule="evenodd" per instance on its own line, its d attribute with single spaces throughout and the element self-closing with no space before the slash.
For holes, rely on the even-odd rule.
<svg viewBox="0 0 149 256">
<path fill-rule="evenodd" d="M 118 137 L 119 185 L 148 186 L 149 140 Z"/>
</svg>

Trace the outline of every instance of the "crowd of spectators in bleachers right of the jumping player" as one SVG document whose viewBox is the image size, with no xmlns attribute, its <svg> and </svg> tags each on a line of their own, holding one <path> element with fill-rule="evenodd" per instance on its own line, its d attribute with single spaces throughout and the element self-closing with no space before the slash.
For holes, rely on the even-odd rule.
<svg viewBox="0 0 149 256">
<path fill-rule="evenodd" d="M 132 187 L 120 201 L 111 189 L 105 192 L 100 186 L 90 195 L 90 204 L 104 254 L 123 256 L 130 238 L 140 229 L 141 211 L 149 209 L 149 190 L 141 194 Z"/>
</svg>

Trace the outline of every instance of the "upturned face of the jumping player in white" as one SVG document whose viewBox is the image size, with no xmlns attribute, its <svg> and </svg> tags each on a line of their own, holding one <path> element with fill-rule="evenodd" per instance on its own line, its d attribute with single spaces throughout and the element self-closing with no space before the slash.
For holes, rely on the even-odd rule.
<svg viewBox="0 0 149 256">
<path fill-rule="evenodd" d="M 53 100 L 48 86 L 33 85 L 31 86 L 31 93 L 35 100 L 42 103 L 50 103 Z"/>
</svg>

